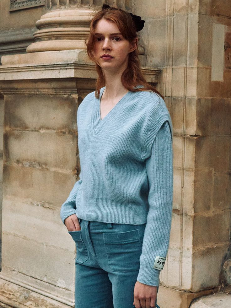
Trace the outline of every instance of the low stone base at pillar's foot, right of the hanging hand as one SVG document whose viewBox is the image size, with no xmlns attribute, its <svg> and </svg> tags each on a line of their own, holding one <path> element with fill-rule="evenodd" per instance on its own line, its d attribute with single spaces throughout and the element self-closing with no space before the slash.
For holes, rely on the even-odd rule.
<svg viewBox="0 0 231 308">
<path fill-rule="evenodd" d="M 161 308 L 189 308 L 192 300 L 195 298 L 216 292 L 218 292 L 218 287 L 191 293 L 160 286 L 158 290 L 157 304 Z"/>
</svg>

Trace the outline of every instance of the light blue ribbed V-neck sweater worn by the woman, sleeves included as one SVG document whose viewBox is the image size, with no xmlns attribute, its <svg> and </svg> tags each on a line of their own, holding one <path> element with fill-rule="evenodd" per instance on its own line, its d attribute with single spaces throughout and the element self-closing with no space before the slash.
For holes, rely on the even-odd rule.
<svg viewBox="0 0 231 308">
<path fill-rule="evenodd" d="M 172 124 L 164 100 L 129 91 L 101 120 L 100 99 L 87 95 L 77 112 L 80 180 L 61 219 L 146 224 L 137 281 L 158 286 L 156 256 L 166 257 L 173 195 Z"/>
</svg>

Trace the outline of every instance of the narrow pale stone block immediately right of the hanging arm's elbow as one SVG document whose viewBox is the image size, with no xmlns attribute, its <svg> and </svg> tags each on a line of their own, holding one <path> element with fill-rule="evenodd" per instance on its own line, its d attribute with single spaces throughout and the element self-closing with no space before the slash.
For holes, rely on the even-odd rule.
<svg viewBox="0 0 231 308">
<path fill-rule="evenodd" d="M 180 211 L 182 198 L 182 169 L 174 168 L 173 172 L 173 209 Z"/>
</svg>

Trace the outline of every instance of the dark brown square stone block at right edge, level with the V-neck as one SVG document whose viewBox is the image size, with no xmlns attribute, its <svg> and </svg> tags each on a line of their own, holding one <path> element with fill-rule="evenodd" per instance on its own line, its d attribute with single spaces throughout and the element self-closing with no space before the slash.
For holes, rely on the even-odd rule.
<svg viewBox="0 0 231 308">
<path fill-rule="evenodd" d="M 197 99 L 197 132 L 200 135 L 229 135 L 231 99 Z"/>
</svg>

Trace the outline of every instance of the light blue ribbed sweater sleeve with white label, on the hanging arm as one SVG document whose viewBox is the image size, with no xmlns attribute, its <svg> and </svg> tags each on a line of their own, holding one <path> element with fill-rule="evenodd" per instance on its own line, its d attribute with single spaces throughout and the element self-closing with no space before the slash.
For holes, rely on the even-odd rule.
<svg viewBox="0 0 231 308">
<path fill-rule="evenodd" d="M 169 121 L 162 124 L 151 145 L 151 156 L 146 159 L 149 210 L 137 281 L 152 286 L 159 285 L 160 270 L 169 247 L 173 195 L 170 125 Z"/>
</svg>

